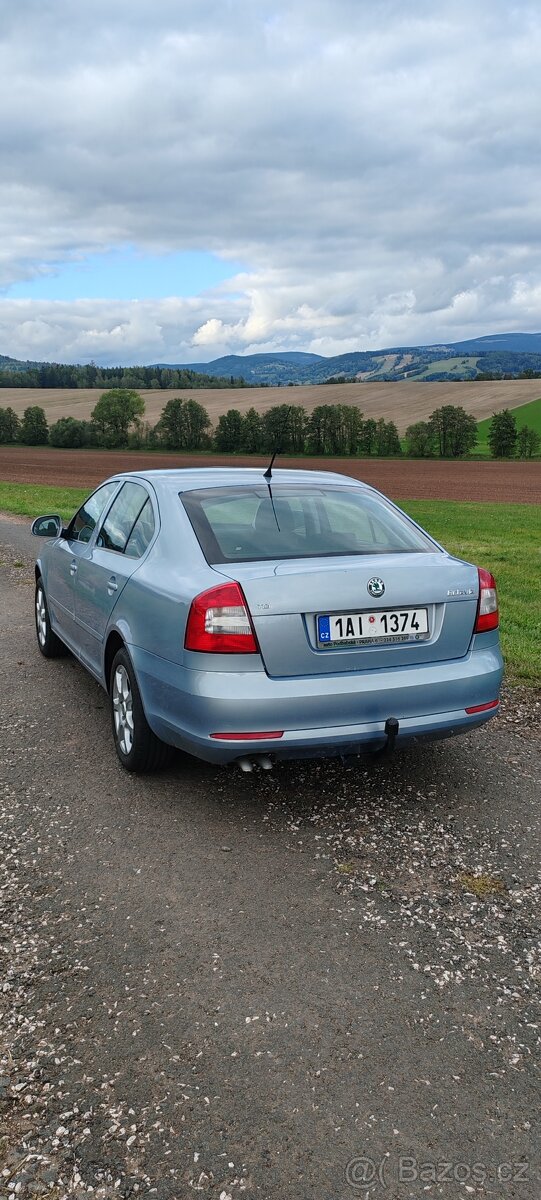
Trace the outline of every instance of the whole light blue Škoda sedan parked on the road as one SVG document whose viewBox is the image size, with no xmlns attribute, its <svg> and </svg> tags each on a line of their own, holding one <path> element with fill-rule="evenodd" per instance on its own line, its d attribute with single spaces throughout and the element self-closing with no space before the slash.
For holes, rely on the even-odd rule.
<svg viewBox="0 0 541 1200">
<path fill-rule="evenodd" d="M 498 710 L 493 576 L 345 475 L 119 474 L 32 532 L 40 650 L 106 689 L 127 770 L 389 751 Z"/>
</svg>

